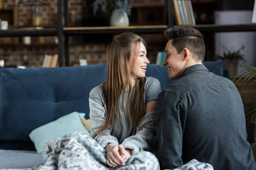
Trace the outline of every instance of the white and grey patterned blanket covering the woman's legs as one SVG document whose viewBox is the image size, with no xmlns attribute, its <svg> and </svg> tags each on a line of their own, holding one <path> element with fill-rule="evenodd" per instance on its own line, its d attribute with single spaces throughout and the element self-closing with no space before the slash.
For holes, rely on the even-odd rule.
<svg viewBox="0 0 256 170">
<path fill-rule="evenodd" d="M 65 136 L 48 142 L 43 151 L 44 163 L 26 170 L 113 170 L 106 164 L 106 151 L 90 136 L 80 132 L 68 133 Z M 150 152 L 139 152 L 132 155 L 118 170 L 160 170 L 159 162 Z M 192 161 L 175 170 L 213 170 L 206 163 Z"/>
</svg>

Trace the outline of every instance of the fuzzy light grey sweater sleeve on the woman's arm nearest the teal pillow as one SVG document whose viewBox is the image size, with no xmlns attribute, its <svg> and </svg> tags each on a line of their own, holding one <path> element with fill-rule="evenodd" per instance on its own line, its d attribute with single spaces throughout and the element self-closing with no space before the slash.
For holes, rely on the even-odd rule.
<svg viewBox="0 0 256 170">
<path fill-rule="evenodd" d="M 106 111 L 102 104 L 96 102 L 99 100 L 93 100 L 95 97 L 93 97 L 92 95 L 93 94 L 90 93 L 89 98 L 90 119 L 92 122 L 90 136 L 104 148 L 107 146 L 108 143 L 118 145 L 118 140 L 116 139 L 116 137 L 111 136 L 110 128 L 103 132 L 104 135 L 97 134 L 97 131 L 105 118 Z"/>
</svg>

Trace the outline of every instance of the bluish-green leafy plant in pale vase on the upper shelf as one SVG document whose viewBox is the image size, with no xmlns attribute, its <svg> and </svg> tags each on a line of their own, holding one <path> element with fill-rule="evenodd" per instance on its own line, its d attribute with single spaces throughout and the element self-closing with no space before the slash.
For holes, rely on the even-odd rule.
<svg viewBox="0 0 256 170">
<path fill-rule="evenodd" d="M 111 26 L 129 26 L 128 15 L 131 15 L 133 0 L 94 0 L 93 13 L 102 7 L 102 11 L 111 14 Z"/>
</svg>

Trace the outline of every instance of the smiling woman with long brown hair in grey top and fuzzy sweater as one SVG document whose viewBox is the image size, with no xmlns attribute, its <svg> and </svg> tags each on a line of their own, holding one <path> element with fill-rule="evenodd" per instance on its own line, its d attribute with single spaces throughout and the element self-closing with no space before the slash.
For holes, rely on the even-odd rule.
<svg viewBox="0 0 256 170">
<path fill-rule="evenodd" d="M 100 162 L 106 167 L 159 169 L 150 152 L 154 151 L 156 99 L 161 89 L 157 79 L 145 77 L 146 53 L 140 36 L 119 34 L 107 49 L 106 82 L 90 92 L 91 137 L 105 149 Z"/>
</svg>

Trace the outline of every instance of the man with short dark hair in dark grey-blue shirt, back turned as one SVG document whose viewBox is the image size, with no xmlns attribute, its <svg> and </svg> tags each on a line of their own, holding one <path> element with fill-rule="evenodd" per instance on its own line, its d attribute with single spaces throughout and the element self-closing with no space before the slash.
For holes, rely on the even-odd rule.
<svg viewBox="0 0 256 170">
<path fill-rule="evenodd" d="M 192 159 L 214 170 L 255 170 L 247 141 L 244 106 L 236 86 L 203 65 L 201 33 L 190 27 L 169 28 L 163 65 L 177 81 L 157 98 L 156 154 L 161 169 Z"/>
</svg>

